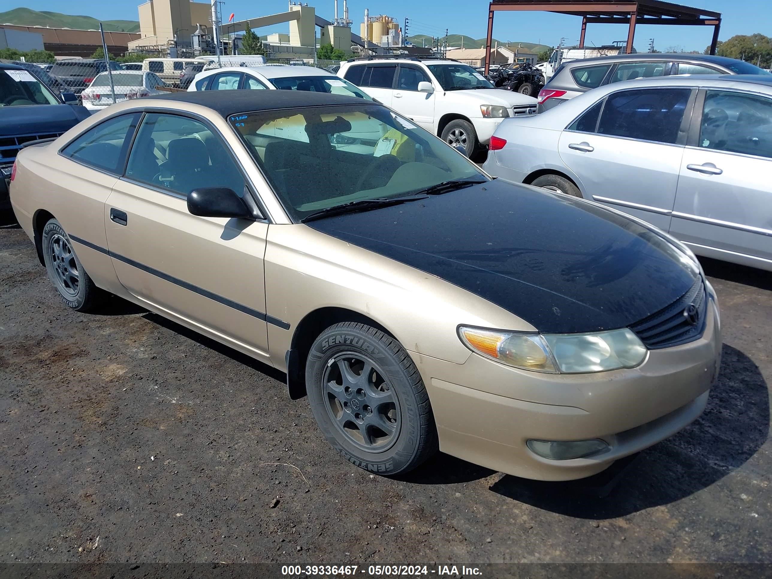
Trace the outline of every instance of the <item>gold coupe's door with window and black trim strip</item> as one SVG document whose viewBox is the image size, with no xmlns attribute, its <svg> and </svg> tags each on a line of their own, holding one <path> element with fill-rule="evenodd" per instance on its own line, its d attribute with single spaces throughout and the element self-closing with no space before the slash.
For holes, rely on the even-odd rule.
<svg viewBox="0 0 772 579">
<path fill-rule="evenodd" d="M 113 266 L 151 309 L 265 357 L 268 223 L 191 215 L 186 198 L 202 187 L 251 195 L 214 128 L 181 114 L 145 114 L 105 205 Z"/>
</svg>

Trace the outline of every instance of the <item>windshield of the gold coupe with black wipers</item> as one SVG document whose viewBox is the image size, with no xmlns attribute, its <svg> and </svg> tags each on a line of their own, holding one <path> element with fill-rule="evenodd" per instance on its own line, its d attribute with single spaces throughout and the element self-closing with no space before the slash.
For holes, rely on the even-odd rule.
<svg viewBox="0 0 772 579">
<path fill-rule="evenodd" d="M 229 123 L 296 221 L 447 181 L 488 181 L 438 138 L 374 104 L 241 113 Z"/>
</svg>

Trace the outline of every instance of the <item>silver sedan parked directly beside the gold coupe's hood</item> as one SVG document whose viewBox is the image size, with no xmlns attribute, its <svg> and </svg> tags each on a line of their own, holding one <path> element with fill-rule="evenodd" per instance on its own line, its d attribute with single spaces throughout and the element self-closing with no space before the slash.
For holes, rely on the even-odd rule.
<svg viewBox="0 0 772 579">
<path fill-rule="evenodd" d="M 485 170 L 642 218 L 699 256 L 772 270 L 772 75 L 601 86 L 494 134 Z"/>
</svg>

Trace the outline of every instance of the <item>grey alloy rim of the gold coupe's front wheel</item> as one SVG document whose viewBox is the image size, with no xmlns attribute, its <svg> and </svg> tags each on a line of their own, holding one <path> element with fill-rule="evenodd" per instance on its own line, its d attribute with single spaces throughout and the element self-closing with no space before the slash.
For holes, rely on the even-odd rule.
<svg viewBox="0 0 772 579">
<path fill-rule="evenodd" d="M 399 401 L 377 364 L 361 354 L 338 354 L 322 380 L 327 413 L 348 442 L 367 452 L 394 445 L 401 428 Z"/>
</svg>

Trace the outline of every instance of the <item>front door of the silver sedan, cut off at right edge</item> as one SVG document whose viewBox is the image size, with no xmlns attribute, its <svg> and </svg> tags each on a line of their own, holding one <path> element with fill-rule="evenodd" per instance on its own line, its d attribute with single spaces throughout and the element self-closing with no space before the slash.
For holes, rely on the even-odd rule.
<svg viewBox="0 0 772 579">
<path fill-rule="evenodd" d="M 697 245 L 698 253 L 719 258 L 740 253 L 772 266 L 770 174 L 772 97 L 701 90 L 681 161 L 671 232 Z"/>
</svg>

